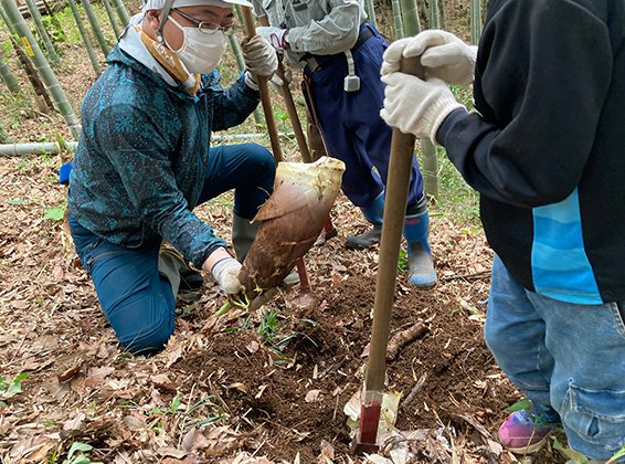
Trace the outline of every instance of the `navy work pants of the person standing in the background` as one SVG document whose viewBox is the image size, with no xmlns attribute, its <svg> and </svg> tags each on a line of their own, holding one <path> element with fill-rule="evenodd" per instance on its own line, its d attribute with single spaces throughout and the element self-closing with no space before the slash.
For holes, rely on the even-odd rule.
<svg viewBox="0 0 625 464">
<path fill-rule="evenodd" d="M 356 75 L 360 89 L 346 92 L 343 80 L 348 75 L 343 53 L 315 55 L 316 71 L 306 66 L 304 73 L 310 82 L 317 123 L 332 158 L 346 164 L 342 178 L 343 193 L 361 208 L 368 208 L 384 191 L 389 173 L 392 129 L 380 117 L 384 103 L 384 84 L 380 80 L 382 55 L 389 46 L 371 24 L 362 24 L 373 35 L 352 49 Z M 413 159 L 407 204 L 414 205 L 423 197 L 423 178 L 416 157 Z"/>
</svg>

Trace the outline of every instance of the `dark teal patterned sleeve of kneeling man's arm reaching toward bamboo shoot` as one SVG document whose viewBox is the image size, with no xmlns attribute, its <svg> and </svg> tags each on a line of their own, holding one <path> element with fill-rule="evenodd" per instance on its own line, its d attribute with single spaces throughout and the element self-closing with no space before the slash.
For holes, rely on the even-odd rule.
<svg viewBox="0 0 625 464">
<path fill-rule="evenodd" d="M 127 196 L 126 214 L 141 218 L 198 268 L 216 247 L 225 246 L 190 210 L 171 169 L 174 141 L 163 136 L 147 112 L 128 104 L 112 105 L 100 113 L 94 135 L 119 176 L 109 181 L 120 183 L 119 196 Z"/>
</svg>

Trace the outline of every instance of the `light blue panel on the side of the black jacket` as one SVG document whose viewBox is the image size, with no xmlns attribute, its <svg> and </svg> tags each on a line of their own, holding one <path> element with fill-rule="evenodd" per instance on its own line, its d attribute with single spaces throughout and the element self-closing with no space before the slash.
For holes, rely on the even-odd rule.
<svg viewBox="0 0 625 464">
<path fill-rule="evenodd" d="M 536 292 L 568 303 L 603 304 L 584 249 L 578 189 L 560 203 L 534 208 L 532 214 Z"/>
</svg>

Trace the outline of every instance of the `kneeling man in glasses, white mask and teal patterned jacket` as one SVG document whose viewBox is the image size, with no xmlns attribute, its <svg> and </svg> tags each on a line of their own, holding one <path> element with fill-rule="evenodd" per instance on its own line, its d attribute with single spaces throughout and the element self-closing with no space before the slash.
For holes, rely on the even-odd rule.
<svg viewBox="0 0 625 464">
<path fill-rule="evenodd" d="M 256 76 L 277 67 L 274 49 L 256 35 L 243 44 L 247 70 L 221 87 L 215 65 L 235 2 L 250 6 L 148 0 L 82 105 L 71 232 L 104 314 L 134 354 L 160 350 L 172 335 L 187 262 L 210 272 L 225 294 L 239 293 L 240 261 L 255 233 L 250 220 L 273 190 L 275 162 L 265 148 L 210 148 L 212 130 L 241 124 L 257 106 Z M 231 189 L 240 261 L 193 213 Z"/>
</svg>

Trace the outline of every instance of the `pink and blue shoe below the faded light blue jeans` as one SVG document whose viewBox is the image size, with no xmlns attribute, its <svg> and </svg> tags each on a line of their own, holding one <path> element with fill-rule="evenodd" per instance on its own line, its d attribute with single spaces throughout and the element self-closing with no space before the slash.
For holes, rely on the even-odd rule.
<svg viewBox="0 0 625 464">
<path fill-rule="evenodd" d="M 529 411 L 515 411 L 499 428 L 499 442 L 512 453 L 536 453 L 547 443 L 554 428 L 555 423 L 543 422 Z"/>
</svg>

